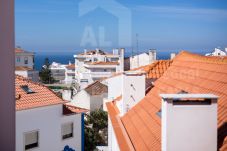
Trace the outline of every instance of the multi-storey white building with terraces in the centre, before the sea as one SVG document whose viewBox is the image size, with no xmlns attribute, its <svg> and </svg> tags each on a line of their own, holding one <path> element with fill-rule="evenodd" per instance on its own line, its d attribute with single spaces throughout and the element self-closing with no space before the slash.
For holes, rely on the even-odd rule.
<svg viewBox="0 0 227 151">
<path fill-rule="evenodd" d="M 76 80 L 81 89 L 96 80 L 124 70 L 124 49 L 114 49 L 112 54 L 96 49 L 74 55 Z"/>
</svg>

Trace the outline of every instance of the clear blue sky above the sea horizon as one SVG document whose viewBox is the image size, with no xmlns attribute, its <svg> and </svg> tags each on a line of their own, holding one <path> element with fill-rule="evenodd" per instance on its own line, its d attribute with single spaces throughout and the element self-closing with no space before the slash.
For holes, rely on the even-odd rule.
<svg viewBox="0 0 227 151">
<path fill-rule="evenodd" d="M 36 52 L 227 47 L 226 0 L 15 1 L 16 45 Z"/>
</svg>

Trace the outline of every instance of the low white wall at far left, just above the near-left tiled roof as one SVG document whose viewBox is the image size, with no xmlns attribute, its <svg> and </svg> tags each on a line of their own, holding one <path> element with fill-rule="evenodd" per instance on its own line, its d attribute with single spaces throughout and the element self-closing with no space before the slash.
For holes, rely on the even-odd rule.
<svg viewBox="0 0 227 151">
<path fill-rule="evenodd" d="M 34 82 L 39 81 L 39 71 L 36 70 L 16 70 L 15 74 L 28 78 Z"/>
</svg>

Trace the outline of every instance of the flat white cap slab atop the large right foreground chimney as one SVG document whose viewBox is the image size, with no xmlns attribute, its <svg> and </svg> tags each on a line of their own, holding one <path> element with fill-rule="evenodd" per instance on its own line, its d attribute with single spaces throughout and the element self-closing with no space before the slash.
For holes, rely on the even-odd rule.
<svg viewBox="0 0 227 151">
<path fill-rule="evenodd" d="M 164 100 L 185 100 L 185 99 L 218 99 L 214 94 L 160 94 Z"/>
</svg>

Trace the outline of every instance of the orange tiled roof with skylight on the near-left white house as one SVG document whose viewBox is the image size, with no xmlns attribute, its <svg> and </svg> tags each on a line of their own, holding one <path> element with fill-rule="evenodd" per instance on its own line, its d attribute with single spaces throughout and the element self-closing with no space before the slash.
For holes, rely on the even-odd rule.
<svg viewBox="0 0 227 151">
<path fill-rule="evenodd" d="M 25 85 L 28 86 L 28 88 L 35 93 L 27 94 L 21 88 L 21 86 L 25 86 Z M 39 83 L 32 82 L 22 76 L 16 75 L 15 89 L 16 89 L 15 97 L 16 97 L 17 111 L 68 103 L 68 101 L 62 100 L 46 86 Z M 79 107 L 69 106 L 68 104 L 65 104 L 64 106 L 66 106 L 69 110 L 71 110 L 71 112 L 74 112 L 74 113 L 85 112 L 85 109 L 82 109 Z"/>
</svg>

